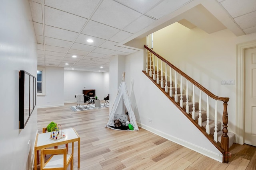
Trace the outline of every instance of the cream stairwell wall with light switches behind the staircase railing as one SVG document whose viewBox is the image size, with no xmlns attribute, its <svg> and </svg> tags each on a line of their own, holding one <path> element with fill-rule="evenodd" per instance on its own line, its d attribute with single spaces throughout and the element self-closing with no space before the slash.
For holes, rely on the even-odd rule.
<svg viewBox="0 0 256 170">
<path fill-rule="evenodd" d="M 256 33 L 236 37 L 228 29 L 208 34 L 199 28 L 188 29 L 174 23 L 153 34 L 154 51 L 180 68 L 213 94 L 229 97 L 228 129 L 236 131 L 236 84 L 221 85 L 221 80 L 236 82 L 236 45 L 256 39 Z M 198 100 L 197 100 L 198 101 Z M 219 104 L 222 121 L 223 105 Z"/>
</svg>

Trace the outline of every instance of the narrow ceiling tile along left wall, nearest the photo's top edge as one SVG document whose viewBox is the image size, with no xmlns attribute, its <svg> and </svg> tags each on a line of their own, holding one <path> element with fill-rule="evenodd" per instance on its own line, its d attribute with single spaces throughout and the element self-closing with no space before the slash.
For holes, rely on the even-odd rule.
<svg viewBox="0 0 256 170">
<path fill-rule="evenodd" d="M 43 16 L 42 16 L 42 4 L 29 1 L 30 10 L 32 14 L 32 20 L 34 22 L 43 23 Z"/>
</svg>

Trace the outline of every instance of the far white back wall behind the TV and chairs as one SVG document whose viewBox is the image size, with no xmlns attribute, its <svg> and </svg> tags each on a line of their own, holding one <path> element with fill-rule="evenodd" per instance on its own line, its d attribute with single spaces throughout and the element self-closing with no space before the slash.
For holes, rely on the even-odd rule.
<svg viewBox="0 0 256 170">
<path fill-rule="evenodd" d="M 95 89 L 98 99 L 109 94 L 109 73 L 64 70 L 64 102 L 76 102 L 74 97 L 84 89 Z"/>
</svg>

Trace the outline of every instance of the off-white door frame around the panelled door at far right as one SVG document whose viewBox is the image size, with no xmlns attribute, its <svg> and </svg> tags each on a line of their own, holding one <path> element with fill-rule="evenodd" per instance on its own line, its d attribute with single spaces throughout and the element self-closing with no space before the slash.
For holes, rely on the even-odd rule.
<svg viewBox="0 0 256 170">
<path fill-rule="evenodd" d="M 236 45 L 236 143 L 244 144 L 245 120 L 245 50 L 256 47 L 256 41 Z"/>
</svg>

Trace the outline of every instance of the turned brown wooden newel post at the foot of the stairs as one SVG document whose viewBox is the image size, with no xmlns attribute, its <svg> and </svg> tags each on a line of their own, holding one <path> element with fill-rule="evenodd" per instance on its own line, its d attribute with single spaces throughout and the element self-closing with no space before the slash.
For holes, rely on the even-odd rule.
<svg viewBox="0 0 256 170">
<path fill-rule="evenodd" d="M 229 99 L 229 98 L 228 98 Z M 224 153 L 222 154 L 222 162 L 228 163 L 228 158 L 230 157 L 230 153 L 228 152 L 228 100 L 223 101 L 223 129 L 222 129 L 222 136 L 221 136 L 221 147 L 224 149 Z"/>
</svg>

